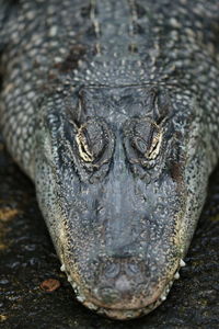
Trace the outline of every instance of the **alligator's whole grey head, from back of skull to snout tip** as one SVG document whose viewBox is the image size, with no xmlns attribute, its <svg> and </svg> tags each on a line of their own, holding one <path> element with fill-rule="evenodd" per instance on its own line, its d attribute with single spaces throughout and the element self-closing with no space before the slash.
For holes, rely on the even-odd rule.
<svg viewBox="0 0 219 329">
<path fill-rule="evenodd" d="M 84 87 L 42 106 L 37 197 L 89 308 L 147 314 L 178 277 L 210 168 L 200 117 L 195 98 L 173 87 Z"/>
</svg>

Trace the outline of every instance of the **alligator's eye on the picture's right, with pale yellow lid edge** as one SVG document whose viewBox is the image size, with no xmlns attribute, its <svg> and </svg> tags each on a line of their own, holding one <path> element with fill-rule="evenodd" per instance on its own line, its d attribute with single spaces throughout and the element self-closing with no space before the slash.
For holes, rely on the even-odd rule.
<svg viewBox="0 0 219 329">
<path fill-rule="evenodd" d="M 162 131 L 149 118 L 132 118 L 125 124 L 124 140 L 129 162 L 148 167 L 160 152 Z"/>
</svg>

